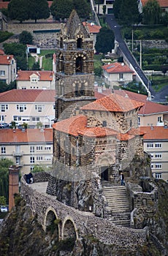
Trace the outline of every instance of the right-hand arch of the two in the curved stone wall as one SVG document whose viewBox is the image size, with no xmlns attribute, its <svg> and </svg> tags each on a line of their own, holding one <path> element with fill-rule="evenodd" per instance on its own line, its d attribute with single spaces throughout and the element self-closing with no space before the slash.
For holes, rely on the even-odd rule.
<svg viewBox="0 0 168 256">
<path fill-rule="evenodd" d="M 64 219 L 62 227 L 62 238 L 64 240 L 67 238 L 74 238 L 74 240 L 78 239 L 77 227 L 72 217 L 67 216 Z"/>
</svg>

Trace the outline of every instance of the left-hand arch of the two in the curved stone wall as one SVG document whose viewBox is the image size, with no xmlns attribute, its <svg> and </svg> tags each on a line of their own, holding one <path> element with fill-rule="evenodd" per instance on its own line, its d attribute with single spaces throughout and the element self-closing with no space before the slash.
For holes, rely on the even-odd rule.
<svg viewBox="0 0 168 256">
<path fill-rule="evenodd" d="M 58 219 L 55 209 L 49 207 L 45 214 L 45 232 L 54 234 L 56 241 L 60 240 L 60 225 L 61 219 Z"/>
</svg>

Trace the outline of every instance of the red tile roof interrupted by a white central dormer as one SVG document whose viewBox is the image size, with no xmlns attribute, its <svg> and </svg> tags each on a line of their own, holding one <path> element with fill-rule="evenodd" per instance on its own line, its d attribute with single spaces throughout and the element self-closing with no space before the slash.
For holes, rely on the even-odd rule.
<svg viewBox="0 0 168 256">
<path fill-rule="evenodd" d="M 49 80 L 52 81 L 54 77 L 53 71 L 27 71 L 27 70 L 20 70 L 18 71 L 18 78 L 16 80 L 30 80 L 31 75 L 37 75 L 39 80 Z"/>
</svg>

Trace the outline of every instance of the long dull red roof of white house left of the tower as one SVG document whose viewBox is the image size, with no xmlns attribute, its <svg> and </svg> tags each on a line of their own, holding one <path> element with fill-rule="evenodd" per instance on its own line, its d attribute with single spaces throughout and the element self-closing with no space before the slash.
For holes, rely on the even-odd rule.
<svg viewBox="0 0 168 256">
<path fill-rule="evenodd" d="M 0 94 L 0 102 L 55 102 L 55 90 L 17 90 L 4 91 Z"/>
</svg>

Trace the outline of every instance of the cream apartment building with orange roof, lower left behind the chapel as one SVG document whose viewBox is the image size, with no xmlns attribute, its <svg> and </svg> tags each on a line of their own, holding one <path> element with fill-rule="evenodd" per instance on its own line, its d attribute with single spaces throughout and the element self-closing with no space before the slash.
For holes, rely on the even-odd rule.
<svg viewBox="0 0 168 256">
<path fill-rule="evenodd" d="M 0 158 L 11 159 L 22 174 L 34 165 L 49 169 L 53 159 L 53 129 L 0 129 Z"/>
</svg>

